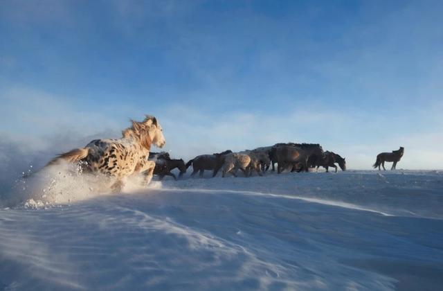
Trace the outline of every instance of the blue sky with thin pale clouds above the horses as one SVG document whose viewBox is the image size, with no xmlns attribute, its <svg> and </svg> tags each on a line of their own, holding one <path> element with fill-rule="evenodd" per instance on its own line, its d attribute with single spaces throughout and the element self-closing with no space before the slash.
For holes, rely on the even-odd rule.
<svg viewBox="0 0 443 291">
<path fill-rule="evenodd" d="M 441 15 L 442 1 L 1 1 L 0 132 L 60 152 L 146 113 L 176 157 L 306 141 L 350 168 L 399 145 L 398 168 L 443 168 Z"/>
</svg>

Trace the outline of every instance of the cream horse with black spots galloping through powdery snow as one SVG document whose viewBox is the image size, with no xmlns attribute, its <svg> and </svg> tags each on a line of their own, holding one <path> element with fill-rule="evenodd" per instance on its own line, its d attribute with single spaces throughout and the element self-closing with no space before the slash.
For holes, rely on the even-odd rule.
<svg viewBox="0 0 443 291">
<path fill-rule="evenodd" d="M 115 177 L 111 186 L 114 191 L 123 188 L 123 179 L 131 175 L 147 172 L 145 184 L 149 184 L 154 171 L 154 161 L 148 161 L 151 144 L 163 148 L 163 129 L 154 116 L 147 115 L 141 121 L 132 121 L 132 126 L 123 130 L 120 139 L 96 139 L 84 148 L 77 148 L 59 155 L 46 166 L 60 161 L 81 162 L 84 169 Z"/>
</svg>

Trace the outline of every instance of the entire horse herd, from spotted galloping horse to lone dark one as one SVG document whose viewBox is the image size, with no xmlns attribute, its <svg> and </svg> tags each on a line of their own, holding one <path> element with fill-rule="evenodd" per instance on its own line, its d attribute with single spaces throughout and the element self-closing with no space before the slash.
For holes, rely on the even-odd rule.
<svg viewBox="0 0 443 291">
<path fill-rule="evenodd" d="M 122 132 L 120 139 L 96 139 L 84 148 L 77 148 L 55 157 L 46 166 L 59 164 L 60 161 L 78 163 L 82 172 L 101 173 L 116 178 L 111 185 L 115 191 L 120 191 L 126 177 L 143 174 L 144 184 L 149 184 L 152 175 L 159 175 L 163 179 L 166 175 L 177 177 L 171 173 L 174 168 L 179 168 L 181 177 L 192 166 L 191 176 L 199 173 L 204 175 L 205 170 L 212 170 L 213 177 L 221 170 L 221 176 L 231 174 L 237 177 L 237 170 L 241 170 L 245 177 L 257 173 L 263 175 L 272 166 L 278 164 L 277 172 L 284 170 L 309 171 L 309 168 L 323 166 L 326 172 L 329 167 L 340 166 L 346 170 L 345 158 L 334 152 L 323 151 L 318 143 L 276 143 L 275 145 L 242 152 L 224 152 L 212 155 L 199 155 L 186 164 L 183 159 L 171 159 L 168 152 L 150 152 L 152 143 L 159 148 L 165 145 L 163 129 L 154 116 L 147 115 L 141 122 L 132 121 L 132 126 Z M 392 169 L 403 156 L 404 148 L 384 152 L 377 156 L 376 164 L 380 169 L 385 161 L 394 161 Z M 386 170 L 386 169 L 385 169 Z"/>
</svg>

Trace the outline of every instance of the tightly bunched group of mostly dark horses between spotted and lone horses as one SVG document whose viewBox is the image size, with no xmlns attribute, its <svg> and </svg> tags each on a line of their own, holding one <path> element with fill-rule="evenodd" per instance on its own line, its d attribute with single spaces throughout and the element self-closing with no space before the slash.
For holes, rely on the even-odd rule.
<svg viewBox="0 0 443 291">
<path fill-rule="evenodd" d="M 179 177 L 181 177 L 190 166 L 192 166 L 191 176 L 199 173 L 200 177 L 203 177 L 205 170 L 212 171 L 213 177 L 219 173 L 219 170 L 221 170 L 221 177 L 227 174 L 237 177 L 238 170 L 241 170 L 245 177 L 250 177 L 253 173 L 262 176 L 271 166 L 274 171 L 275 163 L 278 164 L 278 173 L 284 170 L 308 171 L 309 168 L 320 166 L 326 168 L 326 171 L 329 167 L 337 171 L 336 164 L 341 170 L 346 170 L 346 161 L 343 157 L 334 152 L 323 151 L 318 143 L 276 143 L 242 152 L 225 150 L 212 155 L 199 155 L 186 164 L 183 159 L 171 159 L 168 152 L 152 152 L 150 159 L 155 161 L 154 174 L 159 175 L 160 179 L 163 179 L 165 175 L 177 179 L 171 170 L 179 168 Z"/>
</svg>

